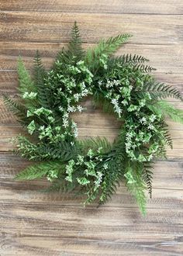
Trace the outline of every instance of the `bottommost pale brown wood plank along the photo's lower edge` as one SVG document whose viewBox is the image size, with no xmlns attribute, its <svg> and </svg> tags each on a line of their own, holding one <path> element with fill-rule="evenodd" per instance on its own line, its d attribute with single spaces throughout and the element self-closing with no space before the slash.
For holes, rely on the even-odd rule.
<svg viewBox="0 0 183 256">
<path fill-rule="evenodd" d="M 27 220 L 22 219 L 22 223 Z M 147 224 L 147 223 L 146 223 Z M 141 237 L 138 234 L 129 233 L 126 227 L 117 230 L 102 232 L 97 230 L 98 237 L 93 239 L 92 230 L 88 232 L 71 230 L 8 230 L 2 234 L 3 255 L 19 253 L 19 255 L 181 255 L 182 240 L 180 234 L 159 234 L 161 222 L 154 226 L 157 227 L 157 234 L 145 234 Z M 164 223 L 162 223 L 164 225 Z M 167 224 L 165 224 L 167 226 Z M 164 225 L 164 226 L 165 226 Z M 141 228 L 142 225 L 134 225 Z M 22 225 L 20 226 L 22 227 Z M 60 226 L 59 226 L 60 227 Z M 100 227 L 100 226 L 99 226 Z M 130 227 L 130 226 L 129 226 Z M 150 226 L 151 227 L 151 226 Z M 150 230 L 148 225 L 148 230 Z M 176 227 L 176 226 L 175 226 Z M 58 228 L 58 227 L 57 227 Z M 89 228 L 89 227 L 88 227 Z M 33 234 L 34 231 L 34 234 Z M 168 229 L 169 231 L 169 229 Z M 155 233 L 155 232 L 154 232 Z M 163 233 L 163 234 L 162 234 Z M 49 234 L 51 236 L 49 236 Z M 108 236 L 116 237 L 106 239 Z M 5 254 L 4 254 L 5 252 Z"/>
</svg>

